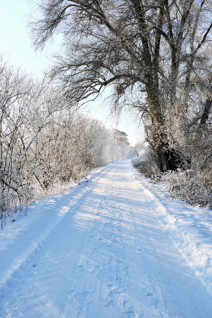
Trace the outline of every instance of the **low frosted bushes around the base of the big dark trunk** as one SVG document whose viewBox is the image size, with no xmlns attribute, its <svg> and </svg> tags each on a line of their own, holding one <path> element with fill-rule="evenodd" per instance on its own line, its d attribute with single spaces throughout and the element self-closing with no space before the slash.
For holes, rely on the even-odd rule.
<svg viewBox="0 0 212 318">
<path fill-rule="evenodd" d="M 190 169 L 177 169 L 161 173 L 155 162 L 154 153 L 143 147 L 133 157 L 133 166 L 153 182 L 162 182 L 166 185 L 169 195 L 181 198 L 183 201 L 212 208 L 212 173 L 206 169 L 199 169 L 196 163 Z"/>
</svg>

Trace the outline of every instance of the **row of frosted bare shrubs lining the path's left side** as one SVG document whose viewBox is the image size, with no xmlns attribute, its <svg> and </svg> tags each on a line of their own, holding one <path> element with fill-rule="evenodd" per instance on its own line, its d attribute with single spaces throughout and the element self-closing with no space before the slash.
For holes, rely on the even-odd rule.
<svg viewBox="0 0 212 318">
<path fill-rule="evenodd" d="M 121 133 L 121 132 L 120 132 Z M 101 121 L 73 108 L 49 81 L 0 61 L 0 219 L 59 192 L 90 169 L 126 158 Z"/>
</svg>

